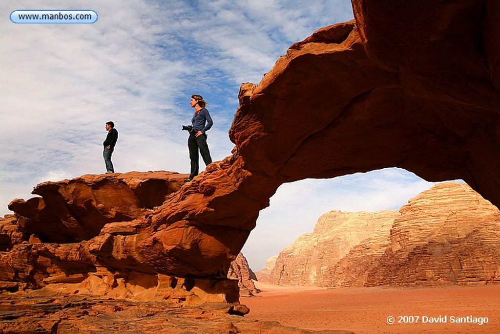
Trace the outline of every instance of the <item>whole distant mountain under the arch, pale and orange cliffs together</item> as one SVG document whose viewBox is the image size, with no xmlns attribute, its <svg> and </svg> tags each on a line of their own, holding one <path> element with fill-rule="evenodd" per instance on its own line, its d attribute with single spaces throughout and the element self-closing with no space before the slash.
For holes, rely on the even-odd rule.
<svg viewBox="0 0 500 334">
<path fill-rule="evenodd" d="M 465 183 L 440 183 L 399 211 L 322 215 L 283 249 L 280 285 L 485 284 L 500 281 L 500 211 Z"/>
</svg>

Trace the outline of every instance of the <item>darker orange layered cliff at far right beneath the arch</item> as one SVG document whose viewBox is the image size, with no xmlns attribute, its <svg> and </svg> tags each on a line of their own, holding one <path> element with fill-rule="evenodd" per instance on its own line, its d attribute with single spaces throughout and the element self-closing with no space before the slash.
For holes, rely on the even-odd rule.
<svg viewBox="0 0 500 334">
<path fill-rule="evenodd" d="M 365 285 L 500 282 L 500 211 L 469 186 L 438 184 L 400 212 Z"/>
</svg>

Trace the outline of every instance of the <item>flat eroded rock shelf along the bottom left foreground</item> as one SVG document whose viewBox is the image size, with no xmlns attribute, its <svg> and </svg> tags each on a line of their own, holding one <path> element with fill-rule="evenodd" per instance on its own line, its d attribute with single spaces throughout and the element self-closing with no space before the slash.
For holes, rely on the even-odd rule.
<svg viewBox="0 0 500 334">
<path fill-rule="evenodd" d="M 161 333 L 161 334 L 313 334 L 275 321 L 245 319 L 243 305 L 175 306 L 161 301 L 95 298 L 91 295 L 29 298 L 0 295 L 0 332 Z M 322 330 L 321 334 L 352 334 Z"/>
</svg>

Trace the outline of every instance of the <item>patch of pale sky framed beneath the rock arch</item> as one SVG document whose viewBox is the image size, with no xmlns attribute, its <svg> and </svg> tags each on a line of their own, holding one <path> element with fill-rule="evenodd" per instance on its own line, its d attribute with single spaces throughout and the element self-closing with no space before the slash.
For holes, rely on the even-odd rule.
<svg viewBox="0 0 500 334">
<path fill-rule="evenodd" d="M 260 270 L 267 258 L 311 233 L 316 220 L 331 210 L 398 210 L 408 199 L 433 185 L 400 168 L 386 168 L 333 179 L 307 179 L 281 185 L 260 211 L 242 252 Z"/>
</svg>

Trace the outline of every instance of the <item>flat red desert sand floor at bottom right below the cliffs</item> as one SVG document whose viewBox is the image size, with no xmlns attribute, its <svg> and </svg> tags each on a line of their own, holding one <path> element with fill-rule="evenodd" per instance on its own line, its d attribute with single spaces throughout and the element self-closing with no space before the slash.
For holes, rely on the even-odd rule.
<svg viewBox="0 0 500 334">
<path fill-rule="evenodd" d="M 500 333 L 500 285 L 280 287 L 240 298 L 247 318 L 355 333 Z"/>
</svg>

